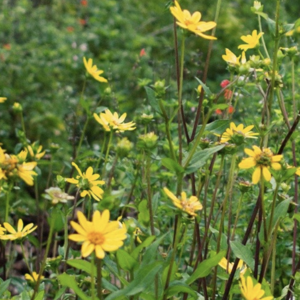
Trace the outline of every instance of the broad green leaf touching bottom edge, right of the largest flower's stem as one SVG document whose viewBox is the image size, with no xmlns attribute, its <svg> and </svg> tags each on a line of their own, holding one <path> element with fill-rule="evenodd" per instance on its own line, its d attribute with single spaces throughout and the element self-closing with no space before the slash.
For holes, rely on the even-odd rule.
<svg viewBox="0 0 300 300">
<path fill-rule="evenodd" d="M 161 267 L 161 261 L 155 261 L 146 266 L 140 266 L 134 279 L 125 288 L 112 292 L 105 300 L 118 300 L 124 296 L 135 295 L 141 291 L 145 291 L 149 287 L 149 283 L 153 282 L 156 273 Z"/>
</svg>

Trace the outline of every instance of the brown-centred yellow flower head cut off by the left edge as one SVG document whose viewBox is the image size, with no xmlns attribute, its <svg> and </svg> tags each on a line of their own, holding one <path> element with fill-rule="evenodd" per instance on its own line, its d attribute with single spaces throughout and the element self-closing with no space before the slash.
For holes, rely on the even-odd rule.
<svg viewBox="0 0 300 300">
<path fill-rule="evenodd" d="M 27 149 L 22 150 L 19 154 L 7 154 L 0 147 L 0 180 L 8 180 L 8 178 L 21 178 L 26 184 L 33 185 L 33 177 L 37 175 L 33 171 L 36 167 L 36 162 L 25 162 Z"/>
</svg>

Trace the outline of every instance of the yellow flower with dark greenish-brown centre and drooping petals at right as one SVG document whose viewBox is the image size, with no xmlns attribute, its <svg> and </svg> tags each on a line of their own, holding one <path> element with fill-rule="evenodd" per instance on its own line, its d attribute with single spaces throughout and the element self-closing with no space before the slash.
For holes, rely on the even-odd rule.
<svg viewBox="0 0 300 300">
<path fill-rule="evenodd" d="M 240 169 L 249 169 L 255 167 L 255 170 L 252 174 L 252 183 L 256 184 L 260 177 L 266 181 L 271 180 L 271 173 L 269 168 L 273 170 L 280 170 L 281 165 L 279 161 L 282 159 L 283 155 L 274 155 L 272 151 L 268 148 L 263 148 L 262 150 L 257 146 L 252 146 L 251 149 L 244 149 L 245 153 L 250 157 L 244 158 L 239 164 Z"/>
</svg>

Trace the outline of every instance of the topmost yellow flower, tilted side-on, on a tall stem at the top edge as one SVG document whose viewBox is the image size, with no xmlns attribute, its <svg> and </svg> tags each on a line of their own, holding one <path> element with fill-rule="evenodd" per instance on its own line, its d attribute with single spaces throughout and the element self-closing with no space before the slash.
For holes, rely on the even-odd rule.
<svg viewBox="0 0 300 300">
<path fill-rule="evenodd" d="M 215 22 L 200 22 L 200 12 L 194 12 L 192 15 L 190 15 L 189 11 L 181 10 L 176 0 L 174 3 L 175 6 L 170 7 L 170 11 L 171 14 L 178 20 L 176 22 L 178 26 L 191 31 L 204 39 L 216 40 L 215 37 L 202 34 L 203 32 L 214 28 L 216 26 Z"/>
</svg>

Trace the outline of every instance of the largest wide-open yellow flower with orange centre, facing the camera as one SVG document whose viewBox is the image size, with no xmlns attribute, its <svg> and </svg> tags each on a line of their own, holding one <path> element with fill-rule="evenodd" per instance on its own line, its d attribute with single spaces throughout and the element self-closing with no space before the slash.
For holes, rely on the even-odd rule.
<svg viewBox="0 0 300 300">
<path fill-rule="evenodd" d="M 119 228 L 118 221 L 109 221 L 109 210 L 101 213 L 96 210 L 92 220 L 87 221 L 82 212 L 77 213 L 79 224 L 71 221 L 71 226 L 77 233 L 70 234 L 68 238 L 76 242 L 83 242 L 81 254 L 83 257 L 95 251 L 96 257 L 103 258 L 104 251 L 115 251 L 123 245 L 126 238 L 126 227 Z"/>
</svg>

